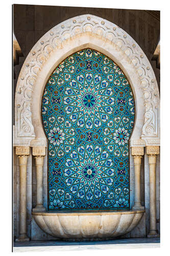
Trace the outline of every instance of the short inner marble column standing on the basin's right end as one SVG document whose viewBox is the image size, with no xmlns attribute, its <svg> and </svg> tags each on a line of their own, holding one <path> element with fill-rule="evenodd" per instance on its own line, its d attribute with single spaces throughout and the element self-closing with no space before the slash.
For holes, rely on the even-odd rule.
<svg viewBox="0 0 170 256">
<path fill-rule="evenodd" d="M 131 154 L 133 156 L 134 167 L 135 167 L 135 199 L 134 205 L 132 207 L 133 210 L 141 210 L 144 209 L 144 206 L 141 205 L 140 199 L 140 167 L 141 167 L 141 159 L 144 155 L 144 147 L 131 147 Z"/>
</svg>

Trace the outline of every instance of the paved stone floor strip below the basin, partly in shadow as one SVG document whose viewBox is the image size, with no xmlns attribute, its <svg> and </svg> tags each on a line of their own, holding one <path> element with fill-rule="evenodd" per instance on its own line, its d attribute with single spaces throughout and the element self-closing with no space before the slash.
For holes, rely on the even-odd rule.
<svg viewBox="0 0 170 256">
<path fill-rule="evenodd" d="M 128 249 L 159 248 L 160 238 L 129 238 L 107 241 L 65 242 L 65 241 L 30 241 L 14 242 L 14 252 L 24 251 L 68 251 L 87 249 Z"/>
</svg>

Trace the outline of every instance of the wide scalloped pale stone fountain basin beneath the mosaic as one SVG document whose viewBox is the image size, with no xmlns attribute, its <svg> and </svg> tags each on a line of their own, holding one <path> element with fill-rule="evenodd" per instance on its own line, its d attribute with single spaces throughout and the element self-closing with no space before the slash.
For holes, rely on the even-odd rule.
<svg viewBox="0 0 170 256">
<path fill-rule="evenodd" d="M 62 239 L 114 238 L 137 226 L 144 210 L 102 212 L 32 212 L 37 225 Z"/>
</svg>

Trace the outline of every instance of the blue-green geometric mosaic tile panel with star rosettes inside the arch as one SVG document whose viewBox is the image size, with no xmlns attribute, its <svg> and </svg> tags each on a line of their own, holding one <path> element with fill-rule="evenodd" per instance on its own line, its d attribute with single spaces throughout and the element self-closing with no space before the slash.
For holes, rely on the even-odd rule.
<svg viewBox="0 0 170 256">
<path fill-rule="evenodd" d="M 92 49 L 72 54 L 49 78 L 41 111 L 48 209 L 129 208 L 135 105 L 122 70 Z"/>
</svg>

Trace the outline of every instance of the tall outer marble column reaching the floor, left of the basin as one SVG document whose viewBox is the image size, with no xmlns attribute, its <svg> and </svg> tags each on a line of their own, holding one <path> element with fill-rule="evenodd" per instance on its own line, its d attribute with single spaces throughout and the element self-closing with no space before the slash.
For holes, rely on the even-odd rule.
<svg viewBox="0 0 170 256">
<path fill-rule="evenodd" d="M 16 146 L 19 158 L 19 238 L 17 242 L 29 241 L 27 236 L 27 159 L 30 155 L 29 146 Z"/>
</svg>

